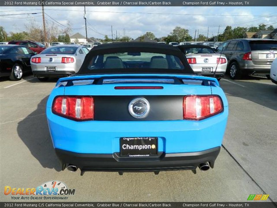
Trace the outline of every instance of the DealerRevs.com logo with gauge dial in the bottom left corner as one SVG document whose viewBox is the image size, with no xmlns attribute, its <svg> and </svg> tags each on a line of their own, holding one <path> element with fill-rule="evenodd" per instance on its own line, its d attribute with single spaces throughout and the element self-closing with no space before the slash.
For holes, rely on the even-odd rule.
<svg viewBox="0 0 277 208">
<path fill-rule="evenodd" d="M 4 187 L 4 194 L 13 200 L 66 200 L 69 195 L 75 194 L 75 189 L 68 189 L 61 181 L 48 181 L 36 188 Z"/>
</svg>

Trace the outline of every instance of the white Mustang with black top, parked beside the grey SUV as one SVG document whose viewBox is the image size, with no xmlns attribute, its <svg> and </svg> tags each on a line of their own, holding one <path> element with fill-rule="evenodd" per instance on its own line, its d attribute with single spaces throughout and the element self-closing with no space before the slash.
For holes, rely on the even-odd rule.
<svg viewBox="0 0 277 208">
<path fill-rule="evenodd" d="M 216 53 L 214 49 L 205 45 L 182 45 L 179 46 L 187 57 L 192 70 L 197 74 L 215 77 L 220 80 L 227 68 L 227 58 L 225 55 Z M 216 68 L 217 67 L 217 68 Z"/>
</svg>

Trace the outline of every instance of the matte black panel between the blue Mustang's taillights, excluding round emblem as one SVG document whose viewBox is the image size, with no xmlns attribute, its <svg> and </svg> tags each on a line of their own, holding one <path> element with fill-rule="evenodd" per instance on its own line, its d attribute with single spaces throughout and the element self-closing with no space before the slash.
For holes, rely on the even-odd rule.
<svg viewBox="0 0 277 208">
<path fill-rule="evenodd" d="M 128 110 L 129 103 L 143 97 L 150 104 L 145 118 L 134 118 Z M 184 96 L 93 96 L 94 120 L 101 121 L 146 121 L 183 120 Z"/>
</svg>

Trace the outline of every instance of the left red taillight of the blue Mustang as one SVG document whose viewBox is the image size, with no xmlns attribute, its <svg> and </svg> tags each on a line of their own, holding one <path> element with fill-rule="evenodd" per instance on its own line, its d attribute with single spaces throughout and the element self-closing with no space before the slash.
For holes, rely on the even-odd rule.
<svg viewBox="0 0 277 208">
<path fill-rule="evenodd" d="M 94 101 L 89 96 L 58 96 L 52 105 L 52 112 L 72 120 L 93 120 Z"/>
</svg>

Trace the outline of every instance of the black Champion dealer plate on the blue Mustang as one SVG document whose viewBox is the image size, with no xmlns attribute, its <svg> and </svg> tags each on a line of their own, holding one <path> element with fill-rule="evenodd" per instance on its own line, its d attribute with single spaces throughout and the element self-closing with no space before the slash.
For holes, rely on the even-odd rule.
<svg viewBox="0 0 277 208">
<path fill-rule="evenodd" d="M 121 137 L 120 156 L 149 157 L 158 155 L 157 137 Z"/>
</svg>

